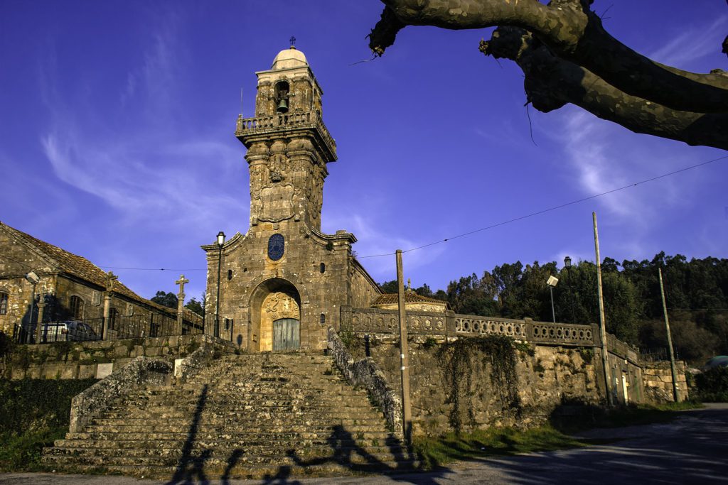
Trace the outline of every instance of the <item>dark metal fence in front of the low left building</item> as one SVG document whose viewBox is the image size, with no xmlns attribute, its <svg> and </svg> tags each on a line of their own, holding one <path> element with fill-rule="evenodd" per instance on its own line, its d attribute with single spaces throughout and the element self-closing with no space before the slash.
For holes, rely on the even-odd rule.
<svg viewBox="0 0 728 485">
<path fill-rule="evenodd" d="M 106 327 L 105 327 L 106 325 Z M 190 310 L 175 313 L 144 313 L 140 315 L 83 320 L 50 321 L 41 324 L 15 325 L 14 339 L 19 343 L 88 342 L 132 338 L 170 337 L 173 335 L 207 334 L 232 341 L 232 318 L 207 313 L 199 316 Z"/>
</svg>

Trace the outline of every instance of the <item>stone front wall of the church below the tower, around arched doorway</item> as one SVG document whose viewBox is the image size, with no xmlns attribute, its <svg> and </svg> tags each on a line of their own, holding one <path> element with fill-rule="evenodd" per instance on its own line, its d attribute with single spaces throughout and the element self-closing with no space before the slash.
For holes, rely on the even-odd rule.
<svg viewBox="0 0 728 485">
<path fill-rule="evenodd" d="M 277 261 L 266 254 L 269 237 L 274 233 L 285 237 L 285 252 Z M 256 324 L 260 324 L 260 319 L 256 312 L 261 311 L 262 302 L 259 293 L 268 292 L 264 285 L 278 280 L 295 288 L 300 298 L 301 348 L 325 348 L 326 329 L 329 325 L 339 326 L 340 308 L 347 304 L 351 248 L 348 241 L 349 235 L 343 231 L 325 236 L 289 220 L 280 225 L 260 223 L 248 235 L 235 236 L 226 243 L 221 262 L 220 314 L 234 319 L 236 345 L 257 350 L 260 330 Z M 207 253 L 209 308 L 215 308 L 216 253 Z"/>
</svg>

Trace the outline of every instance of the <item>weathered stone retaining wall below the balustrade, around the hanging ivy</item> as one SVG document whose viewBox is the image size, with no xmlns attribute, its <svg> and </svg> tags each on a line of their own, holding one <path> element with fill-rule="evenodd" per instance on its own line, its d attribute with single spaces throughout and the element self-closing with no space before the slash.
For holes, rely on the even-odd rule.
<svg viewBox="0 0 728 485">
<path fill-rule="evenodd" d="M 371 355 L 387 377 L 392 388 L 400 393 L 399 346 L 394 342 L 346 338 L 355 359 Z M 434 339 L 410 343 L 410 385 L 414 433 L 440 434 L 451 430 L 449 416 L 453 410 L 448 376 L 438 356 L 442 341 Z M 368 349 L 368 352 L 367 352 Z M 533 353 L 533 355 L 531 355 Z M 468 396 L 462 409 L 464 428 L 505 425 L 538 425 L 560 404 L 568 401 L 596 403 L 596 367 L 594 354 L 582 348 L 561 348 L 539 345 L 516 350 L 515 388 L 521 401 L 518 414 L 504 401 L 502 392 L 491 383 L 490 364 L 484 364 L 482 353 L 470 359 L 472 375 L 462 377 L 462 395 Z"/>
</svg>

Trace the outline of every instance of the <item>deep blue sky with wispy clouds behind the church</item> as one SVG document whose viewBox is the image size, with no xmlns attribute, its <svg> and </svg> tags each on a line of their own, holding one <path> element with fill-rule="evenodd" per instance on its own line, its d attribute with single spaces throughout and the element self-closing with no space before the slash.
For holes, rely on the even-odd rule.
<svg viewBox="0 0 728 485">
<path fill-rule="evenodd" d="M 611 7 L 610 7 L 611 5 Z M 601 1 L 606 28 L 689 71 L 727 68 L 721 0 Z M 200 244 L 248 228 L 245 148 L 256 76 L 296 46 L 324 90 L 339 161 L 323 230 L 360 256 L 409 249 L 724 156 L 635 135 L 567 106 L 523 107 L 521 71 L 478 52 L 488 31 L 406 28 L 368 63 L 379 1 L 0 3 L 0 220 L 115 269 L 145 297 L 205 286 Z M 353 64 L 353 65 L 352 65 Z M 413 285 L 503 262 L 728 256 L 728 161 L 408 252 Z M 362 258 L 376 281 L 394 256 Z M 183 270 L 183 271 L 180 271 Z"/>
</svg>

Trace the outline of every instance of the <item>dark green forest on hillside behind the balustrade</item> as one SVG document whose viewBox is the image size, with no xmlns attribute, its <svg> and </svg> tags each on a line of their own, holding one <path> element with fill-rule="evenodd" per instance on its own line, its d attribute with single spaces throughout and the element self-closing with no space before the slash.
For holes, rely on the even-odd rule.
<svg viewBox="0 0 728 485">
<path fill-rule="evenodd" d="M 727 259 L 687 260 L 681 254 L 667 256 L 664 252 L 652 260 L 621 263 L 605 257 L 601 269 L 607 332 L 644 352 L 660 353 L 667 348 L 658 268 L 662 268 L 673 346 L 679 358 L 701 364 L 716 354 L 727 354 Z M 564 265 L 561 270 L 556 262 L 505 263 L 480 276 L 472 273 L 451 281 L 447 290 L 433 292 L 423 284 L 414 291 L 446 300 L 456 313 L 551 321 L 549 276 L 559 278 L 553 289 L 556 321 L 599 321 L 596 264 L 590 261 Z M 397 281 L 380 286 L 384 292 L 397 292 Z"/>
</svg>

